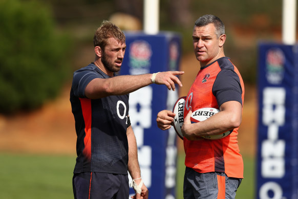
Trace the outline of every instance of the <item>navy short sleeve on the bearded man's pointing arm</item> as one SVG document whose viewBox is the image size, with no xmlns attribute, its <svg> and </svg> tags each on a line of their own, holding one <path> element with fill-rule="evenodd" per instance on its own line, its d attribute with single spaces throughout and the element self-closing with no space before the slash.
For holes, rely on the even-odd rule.
<svg viewBox="0 0 298 199">
<path fill-rule="evenodd" d="M 99 78 L 98 73 L 91 70 L 76 71 L 73 75 L 72 89 L 74 95 L 79 98 L 85 98 L 85 89 L 88 83 L 95 79 Z"/>
</svg>

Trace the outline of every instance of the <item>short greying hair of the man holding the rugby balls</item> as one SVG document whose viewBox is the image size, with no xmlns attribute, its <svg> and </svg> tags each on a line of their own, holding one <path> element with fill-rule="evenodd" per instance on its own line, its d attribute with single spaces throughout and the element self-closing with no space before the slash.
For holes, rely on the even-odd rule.
<svg viewBox="0 0 298 199">
<path fill-rule="evenodd" d="M 220 37 L 220 35 L 225 34 L 225 25 L 217 16 L 214 16 L 212 14 L 205 14 L 198 18 L 195 22 L 195 26 L 198 27 L 206 26 L 208 24 L 214 24 L 216 28 L 217 37 Z"/>
</svg>

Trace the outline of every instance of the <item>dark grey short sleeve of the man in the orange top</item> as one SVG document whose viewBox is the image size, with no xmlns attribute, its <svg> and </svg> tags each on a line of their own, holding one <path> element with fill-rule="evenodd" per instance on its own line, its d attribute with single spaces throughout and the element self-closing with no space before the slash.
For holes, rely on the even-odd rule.
<svg viewBox="0 0 298 199">
<path fill-rule="evenodd" d="M 242 104 L 242 87 L 237 73 L 230 69 L 219 72 L 212 87 L 212 93 L 219 107 L 227 101 L 238 101 Z"/>
</svg>

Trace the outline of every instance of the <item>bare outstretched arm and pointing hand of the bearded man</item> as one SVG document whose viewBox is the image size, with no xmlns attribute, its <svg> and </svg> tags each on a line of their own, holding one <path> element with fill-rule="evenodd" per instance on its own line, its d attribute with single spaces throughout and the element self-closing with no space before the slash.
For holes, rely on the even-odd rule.
<svg viewBox="0 0 298 199">
<path fill-rule="evenodd" d="M 175 91 L 175 83 L 182 86 L 176 75 L 184 74 L 183 71 L 168 71 L 156 74 L 155 83 L 164 84 L 168 90 Z M 153 74 L 123 75 L 107 79 L 95 78 L 89 82 L 85 89 L 86 97 L 99 99 L 110 95 L 125 95 L 132 93 L 152 83 Z"/>
</svg>

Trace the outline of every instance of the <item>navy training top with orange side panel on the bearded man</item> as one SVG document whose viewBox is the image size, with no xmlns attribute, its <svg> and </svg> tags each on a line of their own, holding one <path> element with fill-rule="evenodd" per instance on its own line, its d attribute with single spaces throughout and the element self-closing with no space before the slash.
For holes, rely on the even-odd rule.
<svg viewBox="0 0 298 199">
<path fill-rule="evenodd" d="M 74 72 L 70 92 L 77 134 L 74 173 L 127 174 L 129 94 L 88 99 L 85 88 L 95 78 L 111 78 L 94 63 Z"/>
</svg>

